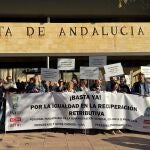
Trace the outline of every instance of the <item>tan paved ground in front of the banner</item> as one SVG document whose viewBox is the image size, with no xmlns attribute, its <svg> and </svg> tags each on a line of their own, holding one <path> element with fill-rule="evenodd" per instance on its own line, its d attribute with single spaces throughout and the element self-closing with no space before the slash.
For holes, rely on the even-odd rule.
<svg viewBox="0 0 150 150">
<path fill-rule="evenodd" d="M 0 150 L 150 150 L 150 134 L 0 133 Z"/>
</svg>

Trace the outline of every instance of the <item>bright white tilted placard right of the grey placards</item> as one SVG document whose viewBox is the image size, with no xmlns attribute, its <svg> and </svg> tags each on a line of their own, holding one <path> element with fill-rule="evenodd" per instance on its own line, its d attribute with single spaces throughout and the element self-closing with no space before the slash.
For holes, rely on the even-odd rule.
<svg viewBox="0 0 150 150">
<path fill-rule="evenodd" d="M 111 64 L 104 66 L 105 74 L 109 77 L 120 76 L 123 75 L 123 68 L 121 63 Z"/>
</svg>

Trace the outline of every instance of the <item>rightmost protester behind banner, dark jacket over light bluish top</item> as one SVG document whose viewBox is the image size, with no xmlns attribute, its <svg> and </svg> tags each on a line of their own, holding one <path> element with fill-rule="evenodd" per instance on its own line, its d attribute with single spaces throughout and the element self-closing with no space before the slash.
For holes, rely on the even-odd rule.
<svg viewBox="0 0 150 150">
<path fill-rule="evenodd" d="M 145 76 L 143 73 L 139 73 L 138 82 L 134 83 L 133 87 L 131 88 L 131 93 L 143 96 L 149 94 L 148 84 L 145 81 Z"/>
</svg>

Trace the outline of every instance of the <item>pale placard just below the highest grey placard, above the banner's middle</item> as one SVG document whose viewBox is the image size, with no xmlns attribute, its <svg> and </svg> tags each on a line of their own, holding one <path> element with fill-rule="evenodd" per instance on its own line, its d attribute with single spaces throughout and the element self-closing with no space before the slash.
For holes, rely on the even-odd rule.
<svg viewBox="0 0 150 150">
<path fill-rule="evenodd" d="M 98 67 L 80 67 L 80 79 L 97 80 L 99 77 Z"/>
</svg>

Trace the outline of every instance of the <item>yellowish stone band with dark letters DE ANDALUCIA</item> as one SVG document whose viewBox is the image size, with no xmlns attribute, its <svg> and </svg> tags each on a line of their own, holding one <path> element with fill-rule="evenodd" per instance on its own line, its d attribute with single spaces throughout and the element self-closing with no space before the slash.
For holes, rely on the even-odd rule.
<svg viewBox="0 0 150 150">
<path fill-rule="evenodd" d="M 0 53 L 150 52 L 150 23 L 0 23 Z"/>
</svg>

